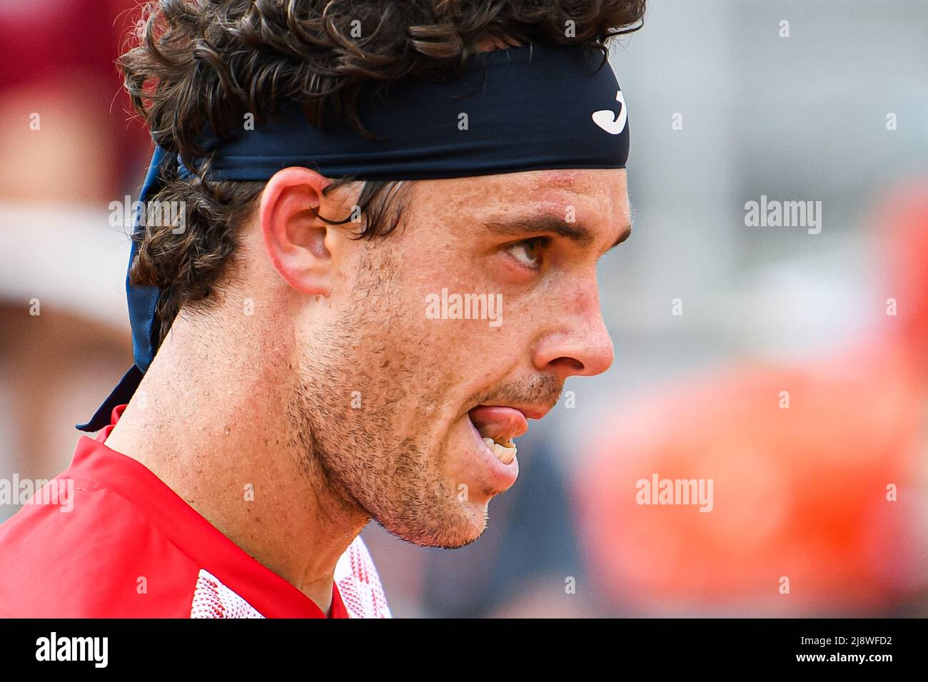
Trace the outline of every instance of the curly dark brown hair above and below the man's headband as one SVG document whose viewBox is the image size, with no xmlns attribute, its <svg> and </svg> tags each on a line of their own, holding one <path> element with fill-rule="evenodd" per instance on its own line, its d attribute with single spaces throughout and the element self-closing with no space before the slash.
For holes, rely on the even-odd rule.
<svg viewBox="0 0 928 682">
<path fill-rule="evenodd" d="M 362 88 L 407 75 L 455 78 L 488 42 L 591 45 L 643 25 L 646 0 L 160 0 L 142 6 L 118 59 L 125 87 L 155 143 L 188 168 L 203 158 L 206 126 L 229 135 L 251 113 L 260 125 L 283 103 L 303 105 L 325 127 L 329 115 L 368 132 L 356 105 Z M 570 30 L 569 30 L 569 28 Z M 356 37 L 355 37 L 356 36 Z M 206 301 L 234 258 L 241 225 L 266 183 L 208 181 L 161 172 L 152 202 L 183 201 L 186 226 L 146 225 L 135 237 L 130 274 L 162 290 L 159 343 L 181 307 Z M 325 193 L 353 184 L 334 180 Z M 389 234 L 400 220 L 403 183 L 365 182 L 357 199 L 358 238 Z M 349 218 L 323 218 L 344 225 Z M 148 223 L 148 222 L 147 222 Z"/>
</svg>

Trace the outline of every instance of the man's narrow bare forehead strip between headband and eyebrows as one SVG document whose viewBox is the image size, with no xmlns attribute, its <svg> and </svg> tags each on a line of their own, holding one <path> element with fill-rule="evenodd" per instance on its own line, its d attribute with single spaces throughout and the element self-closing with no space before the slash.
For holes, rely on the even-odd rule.
<svg viewBox="0 0 928 682">
<path fill-rule="evenodd" d="M 414 196 L 441 214 L 481 219 L 519 208 L 520 212 L 598 214 L 607 222 L 629 213 L 624 168 L 525 171 L 427 180 L 413 183 Z M 593 216 L 595 218 L 595 216 Z"/>
</svg>

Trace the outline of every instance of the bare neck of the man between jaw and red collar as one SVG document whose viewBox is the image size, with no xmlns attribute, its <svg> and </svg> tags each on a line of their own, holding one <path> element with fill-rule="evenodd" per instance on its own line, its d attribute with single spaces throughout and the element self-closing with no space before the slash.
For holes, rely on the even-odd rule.
<svg viewBox="0 0 928 682">
<path fill-rule="evenodd" d="M 294 437 L 286 393 L 271 388 L 287 385 L 281 344 L 224 352 L 191 324 L 174 321 L 107 445 L 328 613 L 335 564 L 369 517 L 331 486 L 309 434 Z M 240 337 L 227 331 L 211 338 Z"/>
</svg>

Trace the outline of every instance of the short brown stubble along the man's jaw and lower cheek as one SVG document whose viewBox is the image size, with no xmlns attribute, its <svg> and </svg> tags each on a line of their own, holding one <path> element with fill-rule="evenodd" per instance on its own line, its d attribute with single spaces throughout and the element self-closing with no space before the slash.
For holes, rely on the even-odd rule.
<svg viewBox="0 0 928 682">
<path fill-rule="evenodd" d="M 443 479 L 449 433 L 430 442 L 404 426 L 410 413 L 428 420 L 444 404 L 442 382 L 422 380 L 445 376 L 430 360 L 441 354 L 404 324 L 402 314 L 417 311 L 388 298 L 403 284 L 392 254 L 379 247 L 376 262 L 370 253 L 363 258 L 338 321 L 314 330 L 312 348 L 291 375 L 295 465 L 317 499 L 363 512 L 416 545 L 463 547 L 479 533 L 458 490 Z"/>
</svg>

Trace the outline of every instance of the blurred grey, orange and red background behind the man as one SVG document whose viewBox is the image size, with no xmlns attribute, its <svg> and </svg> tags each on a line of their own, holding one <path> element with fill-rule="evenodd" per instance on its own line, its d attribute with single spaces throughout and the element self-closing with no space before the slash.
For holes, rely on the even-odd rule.
<svg viewBox="0 0 928 682">
<path fill-rule="evenodd" d="M 132 362 L 135 5 L 0 1 L 0 478 L 65 469 Z M 612 66 L 615 363 L 520 440 L 478 542 L 367 527 L 394 616 L 928 616 L 928 0 L 651 2 Z M 749 226 L 762 197 L 820 231 Z M 640 504 L 665 479 L 711 511 Z"/>
</svg>

